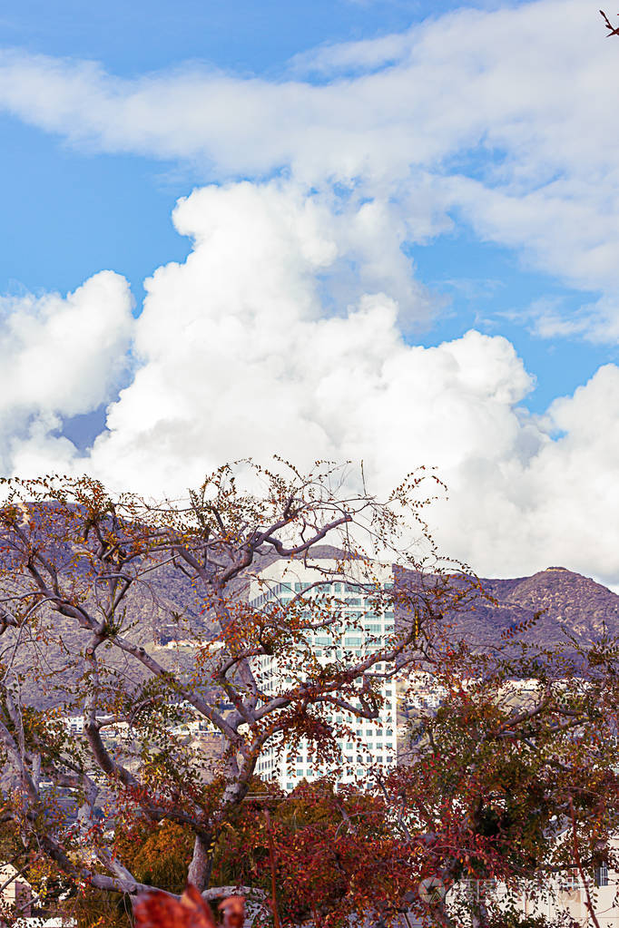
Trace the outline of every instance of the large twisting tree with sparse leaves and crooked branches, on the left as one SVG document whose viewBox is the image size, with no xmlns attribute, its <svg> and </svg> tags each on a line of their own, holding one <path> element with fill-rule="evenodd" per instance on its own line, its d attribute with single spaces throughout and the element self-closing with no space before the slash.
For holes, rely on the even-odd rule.
<svg viewBox="0 0 619 928">
<path fill-rule="evenodd" d="M 337 577 L 384 611 L 400 594 L 377 581 L 378 549 L 419 571 L 422 565 L 398 550 L 399 536 L 414 524 L 434 556 L 420 515 L 427 500 L 419 500 L 423 481 L 434 478 L 412 475 L 381 503 L 365 492 L 345 496 L 341 471 L 329 467 L 304 476 L 283 464 L 276 470 L 245 465 L 245 476 L 257 492 L 243 488 L 239 473 L 226 466 L 187 505 L 157 506 L 128 494 L 112 497 L 85 477 L 3 482 L 6 816 L 19 823 L 26 846 L 42 849 L 75 880 L 122 892 L 140 888 L 103 837 L 97 804 L 107 802 L 119 821 L 139 815 L 191 829 L 188 876 L 203 889 L 213 842 L 243 802 L 265 745 L 275 739 L 283 750 L 303 733 L 323 757 L 339 754 L 329 710 L 376 718 L 377 681 L 393 674 L 396 662 L 419 664 L 417 646 L 430 641 L 440 610 L 464 599 L 448 583 L 419 586 L 406 604 L 414 623 L 403 622 L 363 657 L 343 655 L 308 674 L 308 627 L 343 622 L 342 604 L 316 591 L 330 589 Z M 337 544 L 330 564 L 314 558 L 326 540 Z M 261 568 L 273 558 L 314 563 L 316 583 L 285 607 L 276 599 L 259 609 L 244 588 L 251 576 L 260 583 Z M 206 615 L 219 646 L 213 651 L 205 640 L 204 625 L 196 631 L 187 615 L 176 614 L 198 646 L 184 673 L 139 640 L 135 609 L 145 607 L 147 596 L 165 615 L 157 586 L 163 574 L 190 585 L 187 612 Z M 274 653 L 290 665 L 290 682 L 265 699 L 253 662 Z M 211 783 L 170 732 L 187 708 L 224 742 Z M 84 735 L 75 739 L 61 715 L 80 713 Z M 73 791 L 79 806 L 71 826 L 59 811 L 63 790 Z"/>
</svg>

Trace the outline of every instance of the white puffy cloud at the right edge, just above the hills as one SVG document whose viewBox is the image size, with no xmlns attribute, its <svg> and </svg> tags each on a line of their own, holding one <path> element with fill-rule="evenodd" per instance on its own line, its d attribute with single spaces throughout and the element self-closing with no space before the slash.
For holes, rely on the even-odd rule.
<svg viewBox="0 0 619 928">
<path fill-rule="evenodd" d="M 616 586 L 618 415 L 619 368 L 607 365 L 521 433 L 520 454 L 514 446 L 506 458 L 471 458 L 451 482 L 448 518 L 435 516 L 447 549 L 489 573 L 556 562 Z"/>
</svg>

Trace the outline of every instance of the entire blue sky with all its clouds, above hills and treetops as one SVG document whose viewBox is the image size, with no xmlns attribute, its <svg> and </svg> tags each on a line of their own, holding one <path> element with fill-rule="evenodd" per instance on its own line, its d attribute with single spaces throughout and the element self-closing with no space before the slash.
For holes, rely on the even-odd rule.
<svg viewBox="0 0 619 928">
<path fill-rule="evenodd" d="M 58 332 L 68 371 L 84 356 L 64 392 L 50 351 L 28 368 L 38 393 L 6 393 L 5 472 L 135 483 L 148 460 L 154 492 L 181 459 L 187 485 L 222 457 L 303 458 L 312 441 L 373 455 L 379 483 L 395 474 L 387 459 L 430 458 L 462 498 L 489 497 L 475 539 L 458 528 L 469 502 L 439 522 L 454 553 L 495 573 L 543 566 L 547 551 L 561 561 L 557 513 L 580 495 L 585 524 L 592 486 L 612 511 L 619 140 L 600 97 L 619 41 L 606 43 L 595 4 L 21 2 L 0 30 L 6 378 L 21 382 L 36 340 L 43 352 Z M 276 326 L 278 347 L 213 347 L 236 325 Z M 341 419 L 321 406 L 336 389 L 327 331 L 342 340 L 331 367 L 376 407 L 375 432 L 345 402 Z M 300 373 L 312 339 L 324 364 Z M 208 373 L 222 353 L 234 371 L 223 397 Z M 201 393 L 183 380 L 192 365 Z M 279 425 L 248 429 L 244 378 Z M 442 438 L 411 411 L 413 389 Z M 227 419 L 187 431 L 196 393 Z M 592 460 L 600 396 L 606 445 Z M 545 483 L 553 456 L 561 494 Z M 514 521 L 509 552 L 493 512 Z M 563 559 L 619 582 L 613 540 L 609 528 L 603 556 L 600 542 L 587 557 L 574 541 Z"/>
</svg>

